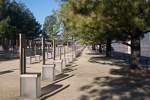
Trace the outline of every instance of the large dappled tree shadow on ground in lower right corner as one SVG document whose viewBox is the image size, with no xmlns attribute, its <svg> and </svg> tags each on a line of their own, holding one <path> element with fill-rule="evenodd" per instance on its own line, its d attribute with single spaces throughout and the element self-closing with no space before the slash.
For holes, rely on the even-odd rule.
<svg viewBox="0 0 150 100">
<path fill-rule="evenodd" d="M 149 100 L 149 72 L 122 68 L 112 69 L 110 74 L 117 77 L 95 77 L 92 83 L 82 86 L 79 91 L 84 94 L 79 100 Z"/>
</svg>

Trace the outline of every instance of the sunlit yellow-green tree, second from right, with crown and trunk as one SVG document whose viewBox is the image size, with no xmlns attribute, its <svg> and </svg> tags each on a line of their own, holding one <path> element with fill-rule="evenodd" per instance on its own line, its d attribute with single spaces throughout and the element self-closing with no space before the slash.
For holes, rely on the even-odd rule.
<svg viewBox="0 0 150 100">
<path fill-rule="evenodd" d="M 83 6 L 84 4 L 85 6 Z M 95 7 L 95 5 L 92 6 Z M 65 31 L 68 31 L 72 36 L 80 37 L 84 43 L 100 45 L 107 42 L 108 52 L 106 52 L 106 55 L 111 56 L 112 39 L 110 37 L 115 37 L 115 35 L 109 35 L 108 29 L 110 25 L 104 25 L 99 10 L 91 12 L 90 9 L 82 7 L 86 7 L 85 0 L 83 2 L 68 1 L 61 5 L 58 16 L 64 24 Z M 104 33 L 106 34 L 105 36 Z"/>
</svg>

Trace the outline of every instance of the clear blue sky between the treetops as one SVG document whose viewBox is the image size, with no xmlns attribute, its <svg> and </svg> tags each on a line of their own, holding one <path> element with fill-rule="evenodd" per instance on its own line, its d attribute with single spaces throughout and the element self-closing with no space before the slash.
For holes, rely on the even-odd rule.
<svg viewBox="0 0 150 100">
<path fill-rule="evenodd" d="M 54 0 L 15 0 L 23 2 L 30 9 L 40 24 L 44 24 L 45 17 L 52 15 L 52 10 L 59 9 L 59 3 Z"/>
</svg>

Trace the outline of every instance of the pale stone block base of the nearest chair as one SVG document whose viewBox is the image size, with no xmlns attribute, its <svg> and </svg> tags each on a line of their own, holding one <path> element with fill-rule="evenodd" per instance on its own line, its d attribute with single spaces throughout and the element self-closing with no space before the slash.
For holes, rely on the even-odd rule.
<svg viewBox="0 0 150 100">
<path fill-rule="evenodd" d="M 41 73 L 20 75 L 20 97 L 39 98 L 41 96 Z"/>
</svg>

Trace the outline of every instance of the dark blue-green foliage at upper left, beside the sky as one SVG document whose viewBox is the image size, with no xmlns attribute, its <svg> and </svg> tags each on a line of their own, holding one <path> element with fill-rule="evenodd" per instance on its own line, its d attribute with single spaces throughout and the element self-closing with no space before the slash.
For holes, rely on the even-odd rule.
<svg viewBox="0 0 150 100">
<path fill-rule="evenodd" d="M 23 33 L 28 39 L 33 39 L 42 32 L 31 11 L 24 3 L 15 0 L 0 0 L 0 26 L 1 37 L 15 38 Z"/>
</svg>

